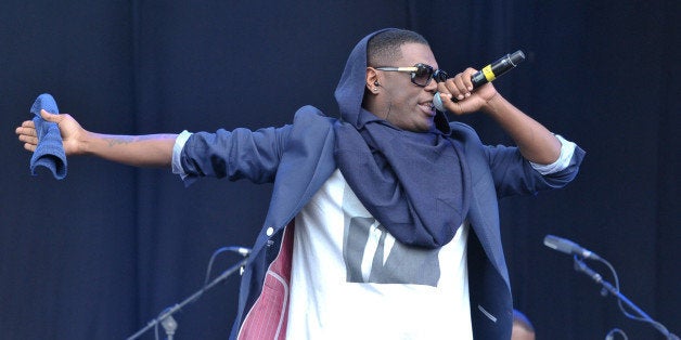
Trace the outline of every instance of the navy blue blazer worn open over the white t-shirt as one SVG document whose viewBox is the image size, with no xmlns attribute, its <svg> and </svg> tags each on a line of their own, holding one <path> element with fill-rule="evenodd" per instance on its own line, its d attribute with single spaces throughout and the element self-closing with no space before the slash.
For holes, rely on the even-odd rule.
<svg viewBox="0 0 681 340">
<path fill-rule="evenodd" d="M 267 217 L 243 272 L 235 338 L 262 290 L 268 266 L 280 251 L 285 226 L 336 170 L 333 156 L 336 119 L 319 109 L 300 108 L 293 125 L 257 131 L 235 129 L 195 133 L 184 145 L 181 162 L 190 178 L 216 176 L 273 182 Z M 541 175 L 516 147 L 484 145 L 468 126 L 452 122 L 452 136 L 463 147 L 471 171 L 472 200 L 467 215 L 468 286 L 476 339 L 511 337 L 513 303 L 501 245 L 498 198 L 529 195 L 571 181 L 584 152 L 577 147 L 570 166 Z"/>
</svg>

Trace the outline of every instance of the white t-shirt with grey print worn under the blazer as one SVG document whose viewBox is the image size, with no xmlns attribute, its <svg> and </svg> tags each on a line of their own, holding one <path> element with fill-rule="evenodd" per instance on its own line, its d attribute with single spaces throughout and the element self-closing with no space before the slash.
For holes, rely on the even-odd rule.
<svg viewBox="0 0 681 340">
<path fill-rule="evenodd" d="M 296 217 L 287 339 L 473 339 L 467 222 L 407 247 L 336 170 Z"/>
</svg>

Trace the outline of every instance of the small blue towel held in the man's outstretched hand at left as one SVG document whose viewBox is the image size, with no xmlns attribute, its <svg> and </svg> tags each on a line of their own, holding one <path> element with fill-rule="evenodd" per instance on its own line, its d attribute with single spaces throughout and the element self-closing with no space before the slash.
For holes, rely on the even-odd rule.
<svg viewBox="0 0 681 340">
<path fill-rule="evenodd" d="M 30 158 L 30 173 L 37 175 L 37 167 L 46 167 L 52 171 L 57 180 L 66 176 L 66 154 L 62 144 L 62 134 L 55 122 L 50 122 L 40 117 L 40 109 L 51 114 L 59 114 L 56 102 L 48 93 L 40 94 L 30 107 L 34 114 L 34 123 L 38 133 L 38 147 Z"/>
</svg>

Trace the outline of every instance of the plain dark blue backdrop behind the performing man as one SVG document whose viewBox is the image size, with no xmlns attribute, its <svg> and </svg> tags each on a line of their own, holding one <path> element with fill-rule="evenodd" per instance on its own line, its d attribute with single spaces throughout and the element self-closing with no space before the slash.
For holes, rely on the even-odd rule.
<svg viewBox="0 0 681 340">
<path fill-rule="evenodd" d="M 497 88 L 588 153 L 566 189 L 502 201 L 515 304 L 539 337 L 658 337 L 545 248 L 547 234 L 608 259 L 622 292 L 681 332 L 680 14 L 677 1 L 4 1 L 2 338 L 132 335 L 200 288 L 216 249 L 249 246 L 269 199 L 269 185 L 184 188 L 168 171 L 93 158 L 69 158 L 63 181 L 30 176 L 12 131 L 38 94 L 107 133 L 279 126 L 306 104 L 333 116 L 350 49 L 386 26 L 422 32 L 450 71 L 522 49 L 527 61 Z M 464 120 L 509 143 L 485 117 Z M 222 254 L 216 271 L 236 261 Z M 237 282 L 177 314 L 177 338 L 227 337 Z"/>
</svg>

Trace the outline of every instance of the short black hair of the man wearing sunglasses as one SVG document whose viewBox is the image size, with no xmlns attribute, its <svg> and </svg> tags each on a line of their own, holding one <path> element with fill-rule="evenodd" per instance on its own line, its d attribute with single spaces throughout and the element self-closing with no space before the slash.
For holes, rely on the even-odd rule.
<svg viewBox="0 0 681 340">
<path fill-rule="evenodd" d="M 429 47 L 423 36 L 407 29 L 390 29 L 371 37 L 367 44 L 367 65 L 389 66 L 391 62 L 402 57 L 401 45 L 411 42 Z"/>
</svg>

